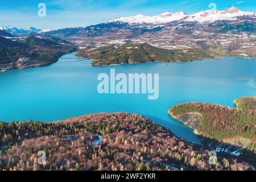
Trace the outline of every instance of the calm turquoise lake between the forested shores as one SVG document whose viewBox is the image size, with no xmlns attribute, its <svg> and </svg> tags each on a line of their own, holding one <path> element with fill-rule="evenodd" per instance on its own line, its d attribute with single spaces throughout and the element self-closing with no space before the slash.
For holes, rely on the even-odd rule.
<svg viewBox="0 0 256 182">
<path fill-rule="evenodd" d="M 99 94 L 100 73 L 159 73 L 159 98 L 147 94 Z M 256 60 L 224 57 L 192 63 L 146 63 L 92 67 L 75 53 L 46 67 L 0 72 L 0 121 L 56 121 L 75 116 L 126 111 L 142 114 L 175 135 L 200 143 L 193 131 L 167 110 L 181 102 L 234 107 L 233 100 L 256 95 Z"/>
</svg>

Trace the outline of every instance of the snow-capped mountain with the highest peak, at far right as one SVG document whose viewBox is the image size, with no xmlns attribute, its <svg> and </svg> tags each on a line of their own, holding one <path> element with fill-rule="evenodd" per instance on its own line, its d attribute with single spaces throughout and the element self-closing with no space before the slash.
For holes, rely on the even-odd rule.
<svg viewBox="0 0 256 182">
<path fill-rule="evenodd" d="M 226 9 L 224 11 L 200 11 L 199 13 L 189 15 L 185 18 L 185 21 L 188 22 L 215 22 L 216 20 L 237 20 L 238 17 L 241 16 L 250 16 L 252 18 L 256 18 L 256 14 L 247 11 L 240 11 L 236 7 L 231 7 L 230 9 Z"/>
</svg>

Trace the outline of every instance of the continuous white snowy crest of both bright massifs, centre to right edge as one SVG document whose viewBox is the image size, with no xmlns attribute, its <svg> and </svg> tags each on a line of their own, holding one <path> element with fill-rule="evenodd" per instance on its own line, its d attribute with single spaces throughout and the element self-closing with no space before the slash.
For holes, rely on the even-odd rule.
<svg viewBox="0 0 256 182">
<path fill-rule="evenodd" d="M 184 22 L 215 22 L 217 20 L 237 20 L 238 17 L 250 16 L 256 18 L 256 14 L 247 11 L 238 10 L 236 7 L 231 7 L 223 11 L 206 10 L 200 11 L 199 13 L 187 15 L 184 11 L 178 11 L 176 13 L 162 13 L 156 16 L 145 16 L 142 14 L 135 16 L 121 17 L 119 19 L 113 19 L 110 22 L 125 22 L 129 24 L 163 24 L 180 20 Z"/>
</svg>

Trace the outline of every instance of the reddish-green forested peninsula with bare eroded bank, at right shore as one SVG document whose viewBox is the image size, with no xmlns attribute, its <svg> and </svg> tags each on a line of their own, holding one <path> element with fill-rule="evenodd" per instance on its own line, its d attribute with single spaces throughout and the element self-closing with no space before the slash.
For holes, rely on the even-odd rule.
<svg viewBox="0 0 256 182">
<path fill-rule="evenodd" d="M 237 109 L 216 104 L 184 103 L 168 113 L 187 125 L 193 123 L 196 133 L 221 142 L 237 144 L 256 151 L 256 97 L 241 97 L 234 101 Z M 195 114 L 201 116 L 191 119 Z"/>
</svg>

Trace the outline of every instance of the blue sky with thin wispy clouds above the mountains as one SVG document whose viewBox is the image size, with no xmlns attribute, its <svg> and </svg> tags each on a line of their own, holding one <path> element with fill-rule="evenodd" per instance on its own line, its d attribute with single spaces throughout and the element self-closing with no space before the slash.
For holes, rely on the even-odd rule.
<svg viewBox="0 0 256 182">
<path fill-rule="evenodd" d="M 113 18 L 136 14 L 157 15 L 166 11 L 193 14 L 236 6 L 243 11 L 256 12 L 255 0 L 0 0 L 0 26 L 57 29 L 85 27 Z M 46 16 L 38 16 L 38 4 L 46 4 Z"/>
</svg>

